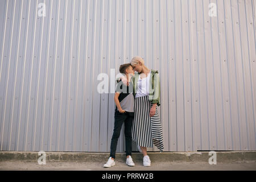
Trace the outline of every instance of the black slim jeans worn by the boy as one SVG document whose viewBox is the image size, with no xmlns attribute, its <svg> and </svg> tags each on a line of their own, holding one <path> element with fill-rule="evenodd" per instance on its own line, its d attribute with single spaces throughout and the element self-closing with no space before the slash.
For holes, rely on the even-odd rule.
<svg viewBox="0 0 256 182">
<path fill-rule="evenodd" d="M 110 144 L 110 157 L 115 158 L 115 151 L 117 150 L 117 142 L 122 129 L 123 122 L 125 122 L 125 147 L 126 156 L 131 155 L 131 127 L 133 126 L 134 113 L 119 113 L 115 110 L 114 132 Z"/>
</svg>

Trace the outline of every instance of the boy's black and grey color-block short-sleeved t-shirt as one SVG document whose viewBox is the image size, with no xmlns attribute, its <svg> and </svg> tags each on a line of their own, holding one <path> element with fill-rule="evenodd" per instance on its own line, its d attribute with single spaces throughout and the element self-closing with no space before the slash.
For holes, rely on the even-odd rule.
<svg viewBox="0 0 256 182">
<path fill-rule="evenodd" d="M 119 81 L 115 92 L 120 93 L 118 100 L 122 109 L 127 112 L 134 112 L 133 83 L 129 82 L 129 85 L 126 86 L 122 81 Z M 115 106 L 115 111 L 118 111 L 117 106 Z"/>
</svg>

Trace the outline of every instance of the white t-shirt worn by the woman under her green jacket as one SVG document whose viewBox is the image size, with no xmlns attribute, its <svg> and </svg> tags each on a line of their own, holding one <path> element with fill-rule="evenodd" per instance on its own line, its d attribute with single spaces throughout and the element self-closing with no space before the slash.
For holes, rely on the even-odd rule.
<svg viewBox="0 0 256 182">
<path fill-rule="evenodd" d="M 141 76 L 139 76 L 135 97 L 149 96 L 150 73 L 147 74 L 146 78 L 141 78 Z"/>
</svg>

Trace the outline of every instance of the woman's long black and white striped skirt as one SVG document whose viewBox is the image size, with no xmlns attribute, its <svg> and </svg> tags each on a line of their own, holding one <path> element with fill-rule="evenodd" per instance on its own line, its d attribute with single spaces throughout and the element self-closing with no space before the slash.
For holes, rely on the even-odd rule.
<svg viewBox="0 0 256 182">
<path fill-rule="evenodd" d="M 138 146 L 152 148 L 154 144 L 162 152 L 164 148 L 162 124 L 158 106 L 155 114 L 150 117 L 152 105 L 148 96 L 135 97 L 132 136 Z"/>
</svg>

